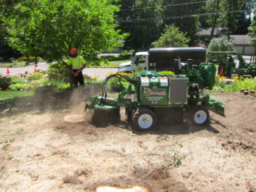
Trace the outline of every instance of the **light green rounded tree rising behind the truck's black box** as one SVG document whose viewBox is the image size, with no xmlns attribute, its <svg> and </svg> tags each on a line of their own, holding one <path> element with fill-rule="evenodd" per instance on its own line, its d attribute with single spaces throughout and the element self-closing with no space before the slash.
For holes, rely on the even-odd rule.
<svg viewBox="0 0 256 192">
<path fill-rule="evenodd" d="M 179 31 L 174 25 L 165 26 L 164 33 L 161 33 L 159 40 L 154 41 L 152 46 L 155 48 L 166 47 L 187 47 L 190 38 L 186 37 L 186 33 Z"/>
</svg>

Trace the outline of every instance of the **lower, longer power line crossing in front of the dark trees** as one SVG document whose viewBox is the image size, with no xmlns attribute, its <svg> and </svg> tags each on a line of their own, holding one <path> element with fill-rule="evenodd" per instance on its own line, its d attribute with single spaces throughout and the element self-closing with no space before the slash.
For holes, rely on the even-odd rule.
<svg viewBox="0 0 256 192">
<path fill-rule="evenodd" d="M 126 20 L 117 20 L 119 23 L 125 22 L 136 22 L 136 21 L 154 21 L 157 19 L 176 19 L 176 18 L 189 18 L 194 16 L 210 16 L 210 15 L 218 15 L 218 14 L 230 14 L 230 13 L 238 13 L 242 12 L 243 10 L 238 11 L 225 11 L 225 12 L 217 12 L 217 13 L 209 13 L 209 14 L 193 14 L 187 16 L 170 16 L 170 17 L 155 17 L 155 18 L 137 18 L 137 19 L 126 19 Z"/>
</svg>

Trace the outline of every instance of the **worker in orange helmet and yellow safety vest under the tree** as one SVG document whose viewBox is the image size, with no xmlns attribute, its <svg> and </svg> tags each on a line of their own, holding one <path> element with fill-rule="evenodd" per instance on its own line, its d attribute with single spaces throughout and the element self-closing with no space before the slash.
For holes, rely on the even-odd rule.
<svg viewBox="0 0 256 192">
<path fill-rule="evenodd" d="M 68 60 L 68 68 L 72 74 L 72 83 L 74 87 L 78 87 L 78 82 L 80 85 L 85 85 L 83 79 L 82 70 L 86 67 L 85 59 L 78 55 L 78 50 L 76 48 L 70 48 L 70 58 Z"/>
</svg>

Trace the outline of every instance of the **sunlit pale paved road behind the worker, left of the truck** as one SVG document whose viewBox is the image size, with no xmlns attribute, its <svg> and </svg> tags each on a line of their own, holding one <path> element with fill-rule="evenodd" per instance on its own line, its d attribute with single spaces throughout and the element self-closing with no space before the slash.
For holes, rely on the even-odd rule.
<svg viewBox="0 0 256 192">
<path fill-rule="evenodd" d="M 28 73 L 34 72 L 34 65 L 28 65 L 23 68 L 9 68 L 10 75 L 16 75 L 18 73 L 25 73 L 26 71 Z M 48 64 L 46 63 L 38 63 L 38 70 L 46 70 L 48 68 Z M 7 68 L 0 68 L 0 75 L 6 75 Z M 83 74 L 87 74 L 89 76 L 99 76 L 97 79 L 104 80 L 106 77 L 106 74 L 109 72 L 116 73 L 117 68 L 85 68 L 82 70 Z"/>
</svg>

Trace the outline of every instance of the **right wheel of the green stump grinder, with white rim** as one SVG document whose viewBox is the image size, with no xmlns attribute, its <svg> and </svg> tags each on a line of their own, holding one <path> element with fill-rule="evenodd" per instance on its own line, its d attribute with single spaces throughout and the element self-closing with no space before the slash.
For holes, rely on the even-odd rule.
<svg viewBox="0 0 256 192">
<path fill-rule="evenodd" d="M 195 105 L 188 109 L 188 123 L 191 125 L 202 126 L 209 123 L 209 112 L 201 106 Z"/>
</svg>

